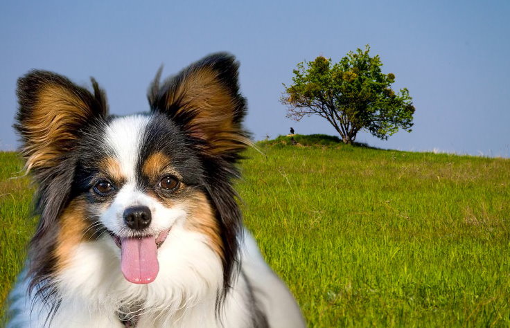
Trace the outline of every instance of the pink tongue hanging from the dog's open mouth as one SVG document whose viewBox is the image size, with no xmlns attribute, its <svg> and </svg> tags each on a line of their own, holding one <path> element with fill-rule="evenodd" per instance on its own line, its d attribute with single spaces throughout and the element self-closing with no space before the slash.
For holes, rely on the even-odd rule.
<svg viewBox="0 0 510 328">
<path fill-rule="evenodd" d="M 121 239 L 121 269 L 129 282 L 153 282 L 159 271 L 156 237 Z"/>
</svg>

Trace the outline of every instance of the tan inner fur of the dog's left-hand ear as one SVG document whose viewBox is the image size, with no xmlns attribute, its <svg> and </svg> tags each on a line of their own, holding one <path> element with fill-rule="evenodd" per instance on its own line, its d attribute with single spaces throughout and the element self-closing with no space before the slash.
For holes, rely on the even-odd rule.
<svg viewBox="0 0 510 328">
<path fill-rule="evenodd" d="M 70 90 L 55 84 L 44 86 L 39 91 L 32 116 L 24 123 L 28 140 L 23 154 L 26 169 L 50 167 L 58 157 L 69 149 L 69 140 L 76 140 L 72 127 L 85 122 L 91 109 Z"/>
</svg>

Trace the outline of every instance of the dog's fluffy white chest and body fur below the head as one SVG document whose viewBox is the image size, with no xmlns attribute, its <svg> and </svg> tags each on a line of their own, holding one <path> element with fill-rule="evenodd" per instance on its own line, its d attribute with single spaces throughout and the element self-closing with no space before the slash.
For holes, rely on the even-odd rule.
<svg viewBox="0 0 510 328">
<path fill-rule="evenodd" d="M 132 313 L 140 315 L 137 327 L 252 327 L 253 300 L 247 284 L 258 306 L 268 314 L 270 327 L 304 326 L 292 295 L 265 264 L 247 232 L 241 259 L 243 274 L 234 280 L 218 318 L 220 259 L 200 242 L 203 236 L 186 234 L 169 237 L 168 244 L 161 247 L 160 273 L 151 284 L 127 282 L 109 243 L 78 246 L 73 264 L 60 277 L 62 302 L 51 327 L 125 327 L 119 319 L 119 310 L 123 309 L 140 311 Z M 179 248 L 173 248 L 172 243 L 180 244 Z M 8 327 L 44 326 L 48 309 L 38 303 L 30 313 L 32 302 L 26 293 L 26 281 L 17 284 L 10 300 L 15 316 Z"/>
</svg>

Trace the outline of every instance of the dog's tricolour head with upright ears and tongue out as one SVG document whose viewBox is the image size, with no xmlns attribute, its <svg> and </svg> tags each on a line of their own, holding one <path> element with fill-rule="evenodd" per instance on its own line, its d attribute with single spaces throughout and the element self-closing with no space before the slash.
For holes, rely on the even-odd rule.
<svg viewBox="0 0 510 328">
<path fill-rule="evenodd" d="M 249 143 L 238 63 L 220 53 L 161 84 L 160 73 L 150 112 L 126 117 L 108 115 L 94 80 L 91 93 L 47 71 L 19 79 L 15 128 L 39 185 L 32 286 L 51 282 L 76 244 L 105 238 L 128 281 L 152 282 L 173 230 L 202 235 L 229 285 L 241 227 L 230 181 Z"/>
</svg>

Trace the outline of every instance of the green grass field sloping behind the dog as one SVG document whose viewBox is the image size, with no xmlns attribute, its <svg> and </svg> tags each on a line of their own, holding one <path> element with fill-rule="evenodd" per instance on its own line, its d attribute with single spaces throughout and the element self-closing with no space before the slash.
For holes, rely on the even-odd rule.
<svg viewBox="0 0 510 328">
<path fill-rule="evenodd" d="M 310 327 L 510 326 L 510 160 L 324 144 L 258 143 L 237 185 Z M 3 302 L 34 222 L 0 167 Z"/>
</svg>

